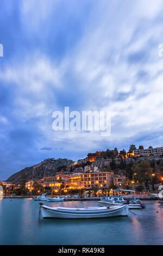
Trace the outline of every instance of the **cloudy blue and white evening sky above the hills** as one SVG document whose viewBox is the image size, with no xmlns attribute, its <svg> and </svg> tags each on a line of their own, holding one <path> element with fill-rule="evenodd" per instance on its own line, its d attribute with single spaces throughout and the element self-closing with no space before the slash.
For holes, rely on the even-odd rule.
<svg viewBox="0 0 163 256">
<path fill-rule="evenodd" d="M 0 180 L 54 157 L 163 146 L 162 1 L 2 0 Z M 54 111 L 109 111 L 111 134 L 54 131 Z"/>
</svg>

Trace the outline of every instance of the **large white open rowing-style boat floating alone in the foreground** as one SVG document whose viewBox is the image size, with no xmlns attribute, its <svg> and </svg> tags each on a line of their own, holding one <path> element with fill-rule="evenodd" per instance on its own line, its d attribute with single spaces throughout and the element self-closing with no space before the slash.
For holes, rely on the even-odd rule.
<svg viewBox="0 0 163 256">
<path fill-rule="evenodd" d="M 43 218 L 104 218 L 128 216 L 128 204 L 118 206 L 85 206 L 84 208 L 49 207 L 40 203 Z"/>
</svg>

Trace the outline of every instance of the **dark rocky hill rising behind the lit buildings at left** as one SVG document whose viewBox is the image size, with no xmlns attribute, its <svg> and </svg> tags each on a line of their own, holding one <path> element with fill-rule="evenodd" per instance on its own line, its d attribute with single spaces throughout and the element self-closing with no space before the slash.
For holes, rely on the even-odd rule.
<svg viewBox="0 0 163 256">
<path fill-rule="evenodd" d="M 68 159 L 46 159 L 41 163 L 35 164 L 32 167 L 26 167 L 20 172 L 12 174 L 7 182 L 12 182 L 14 180 L 15 184 L 21 184 L 22 175 L 26 174 L 27 180 L 41 179 L 45 176 L 53 176 L 60 166 L 67 166 L 68 163 L 73 162 Z"/>
</svg>

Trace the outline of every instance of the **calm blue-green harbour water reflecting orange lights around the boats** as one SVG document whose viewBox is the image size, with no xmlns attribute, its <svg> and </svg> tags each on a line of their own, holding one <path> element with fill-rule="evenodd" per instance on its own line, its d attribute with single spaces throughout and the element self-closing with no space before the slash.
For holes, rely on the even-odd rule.
<svg viewBox="0 0 163 256">
<path fill-rule="evenodd" d="M 0 200 L 0 245 L 162 245 L 163 208 L 145 201 L 136 215 L 92 220 L 39 220 L 39 202 Z M 51 206 L 97 205 L 92 202 L 47 203 Z M 158 212 L 157 212 L 158 211 Z"/>
</svg>

